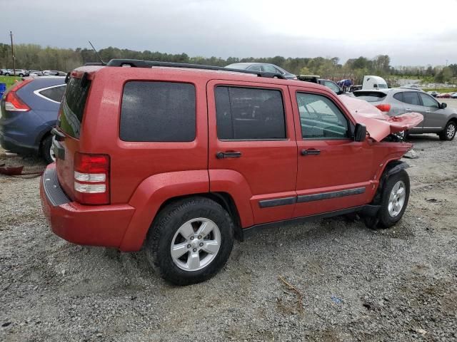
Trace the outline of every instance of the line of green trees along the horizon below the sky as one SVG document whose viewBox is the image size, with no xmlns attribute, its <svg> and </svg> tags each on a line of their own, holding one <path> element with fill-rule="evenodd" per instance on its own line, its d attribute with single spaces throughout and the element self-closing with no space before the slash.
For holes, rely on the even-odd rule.
<svg viewBox="0 0 457 342">
<path fill-rule="evenodd" d="M 457 77 L 457 64 L 450 66 L 391 66 L 388 55 L 378 55 L 374 58 L 360 56 L 350 58 L 346 63 L 339 63 L 338 57 L 333 58 L 285 58 L 283 56 L 264 58 L 219 58 L 188 56 L 186 53 L 161 53 L 157 51 L 134 51 L 121 48 L 102 48 L 99 51 L 104 61 L 112 58 L 134 58 L 149 61 L 169 61 L 177 63 L 195 63 L 209 66 L 226 66 L 238 62 L 273 63 L 295 74 L 316 74 L 322 78 L 335 81 L 351 78 L 355 83 L 361 83 L 364 75 L 377 75 L 393 80 L 393 76 L 426 78 L 429 81 L 447 82 Z M 98 62 L 96 54 L 89 48 L 43 48 L 35 44 L 18 44 L 14 46 L 16 68 L 31 70 L 71 71 L 88 62 Z M 1 68 L 13 68 L 11 46 L 0 43 Z"/>
</svg>

